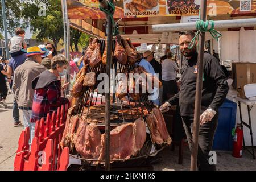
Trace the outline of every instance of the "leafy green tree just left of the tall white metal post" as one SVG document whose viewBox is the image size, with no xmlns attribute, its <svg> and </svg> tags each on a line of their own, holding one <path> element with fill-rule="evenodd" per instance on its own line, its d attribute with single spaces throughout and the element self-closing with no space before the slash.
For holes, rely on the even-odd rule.
<svg viewBox="0 0 256 182">
<path fill-rule="evenodd" d="M 39 4 L 46 6 L 46 16 L 39 16 Z M 38 40 L 50 39 L 55 46 L 64 37 L 63 15 L 60 0 L 31 0 L 22 3 L 22 15 L 30 22 L 30 30 L 36 32 Z"/>
</svg>

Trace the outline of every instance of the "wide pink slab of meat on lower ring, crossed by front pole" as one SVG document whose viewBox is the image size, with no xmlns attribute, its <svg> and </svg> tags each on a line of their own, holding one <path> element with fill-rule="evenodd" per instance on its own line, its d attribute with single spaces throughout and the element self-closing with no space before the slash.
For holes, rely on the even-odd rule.
<svg viewBox="0 0 256 182">
<path fill-rule="evenodd" d="M 134 152 L 135 136 L 133 123 L 121 125 L 110 131 L 110 159 L 130 159 Z M 100 159 L 105 158 L 105 134 L 101 136 Z"/>
</svg>

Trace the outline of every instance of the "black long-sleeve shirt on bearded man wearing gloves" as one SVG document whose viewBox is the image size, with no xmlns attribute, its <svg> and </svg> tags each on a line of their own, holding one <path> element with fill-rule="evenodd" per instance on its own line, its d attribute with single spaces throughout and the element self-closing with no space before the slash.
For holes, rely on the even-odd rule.
<svg viewBox="0 0 256 182">
<path fill-rule="evenodd" d="M 179 103 L 181 116 L 193 117 L 195 110 L 197 78 L 197 53 L 186 60 L 181 76 L 180 92 L 170 98 L 171 105 Z M 216 57 L 204 53 L 203 90 L 201 113 L 208 107 L 215 111 L 222 105 L 228 94 L 228 83 L 225 73 Z"/>
</svg>

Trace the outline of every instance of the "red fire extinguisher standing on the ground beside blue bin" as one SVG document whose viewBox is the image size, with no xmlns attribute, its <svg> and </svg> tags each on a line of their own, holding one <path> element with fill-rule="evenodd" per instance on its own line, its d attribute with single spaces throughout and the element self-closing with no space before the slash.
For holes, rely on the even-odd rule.
<svg viewBox="0 0 256 182">
<path fill-rule="evenodd" d="M 235 158 L 242 158 L 242 149 L 243 149 L 243 130 L 242 130 L 242 125 L 237 124 L 237 128 L 234 135 L 234 141 L 233 141 L 233 156 Z"/>
</svg>

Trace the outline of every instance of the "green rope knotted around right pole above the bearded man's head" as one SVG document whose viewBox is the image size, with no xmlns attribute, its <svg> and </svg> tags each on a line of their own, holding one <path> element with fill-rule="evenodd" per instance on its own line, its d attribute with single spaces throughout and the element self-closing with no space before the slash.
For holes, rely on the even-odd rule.
<svg viewBox="0 0 256 182">
<path fill-rule="evenodd" d="M 211 23 L 211 27 L 208 30 L 209 23 Z M 210 20 L 210 21 L 207 20 L 206 22 L 204 22 L 203 20 L 196 21 L 196 30 L 197 30 L 196 36 L 192 39 L 188 48 L 191 49 L 195 45 L 196 39 L 199 37 L 199 32 L 210 32 L 210 35 L 212 35 L 212 37 L 214 39 L 217 39 L 218 41 L 218 38 L 220 38 L 222 35 L 217 30 L 214 29 L 214 25 L 215 23 L 213 22 L 213 20 Z"/>
</svg>

